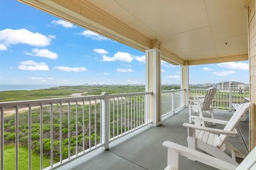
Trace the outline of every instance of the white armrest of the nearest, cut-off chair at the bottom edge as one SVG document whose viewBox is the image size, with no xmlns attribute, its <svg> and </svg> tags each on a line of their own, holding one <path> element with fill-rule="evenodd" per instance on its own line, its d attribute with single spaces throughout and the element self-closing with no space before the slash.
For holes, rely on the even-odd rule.
<svg viewBox="0 0 256 170">
<path fill-rule="evenodd" d="M 228 169 L 228 170 L 234 170 L 236 169 L 236 165 L 230 164 L 228 162 L 225 162 L 224 160 L 215 158 L 211 155 L 204 154 L 203 152 L 199 152 L 194 149 L 187 148 L 185 146 L 179 145 L 177 143 L 173 143 L 170 141 L 164 141 L 163 146 L 168 148 L 169 150 L 174 150 L 178 152 L 180 155 L 193 158 L 198 162 L 201 162 L 203 164 L 218 168 L 218 169 Z M 173 152 L 170 152 L 170 158 L 172 161 L 170 163 L 173 163 L 173 159 L 175 158 L 175 155 L 171 155 Z M 168 156 L 169 157 L 169 156 Z M 168 159 L 168 158 L 167 158 Z M 177 163 L 179 160 L 177 160 Z M 168 164 L 168 166 L 165 169 L 173 169 L 171 164 Z"/>
</svg>

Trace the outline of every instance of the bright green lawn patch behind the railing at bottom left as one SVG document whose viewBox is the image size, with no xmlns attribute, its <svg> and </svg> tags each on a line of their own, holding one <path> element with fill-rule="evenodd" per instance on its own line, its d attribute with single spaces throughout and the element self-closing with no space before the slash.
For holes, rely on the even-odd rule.
<svg viewBox="0 0 256 170">
<path fill-rule="evenodd" d="M 40 169 L 40 156 L 32 152 L 31 154 L 31 169 Z M 49 158 L 43 157 L 43 167 L 51 165 Z M 4 146 L 4 169 L 12 170 L 15 169 L 15 146 L 5 145 Z M 28 149 L 26 147 L 19 147 L 19 169 L 28 169 Z"/>
</svg>

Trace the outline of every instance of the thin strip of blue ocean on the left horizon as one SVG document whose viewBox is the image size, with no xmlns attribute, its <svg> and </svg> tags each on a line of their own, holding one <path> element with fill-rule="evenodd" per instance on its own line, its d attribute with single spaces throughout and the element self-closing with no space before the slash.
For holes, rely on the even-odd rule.
<svg viewBox="0 0 256 170">
<path fill-rule="evenodd" d="M 0 91 L 9 90 L 37 90 L 58 87 L 57 85 L 37 85 L 37 84 L 0 84 Z"/>
</svg>

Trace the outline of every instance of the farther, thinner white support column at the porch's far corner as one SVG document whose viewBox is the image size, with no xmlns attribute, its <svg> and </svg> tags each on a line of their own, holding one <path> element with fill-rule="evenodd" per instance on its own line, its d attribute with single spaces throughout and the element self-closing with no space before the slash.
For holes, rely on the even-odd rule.
<svg viewBox="0 0 256 170">
<path fill-rule="evenodd" d="M 188 65 L 180 66 L 180 73 L 181 73 L 181 84 L 180 88 L 185 89 L 183 91 L 182 99 L 183 105 L 188 106 L 188 89 L 189 89 L 189 67 Z"/>
</svg>

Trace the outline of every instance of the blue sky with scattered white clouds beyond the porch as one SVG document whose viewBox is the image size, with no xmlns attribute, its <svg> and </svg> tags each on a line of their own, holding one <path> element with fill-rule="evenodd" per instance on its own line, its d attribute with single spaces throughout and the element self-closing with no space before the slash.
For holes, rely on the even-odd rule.
<svg viewBox="0 0 256 170">
<path fill-rule="evenodd" d="M 0 84 L 145 84 L 145 53 L 20 2 L 0 6 Z M 162 61 L 162 83 L 180 66 Z M 248 62 L 190 66 L 190 84 L 249 82 Z"/>
</svg>

